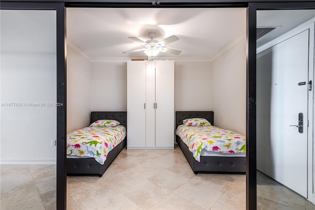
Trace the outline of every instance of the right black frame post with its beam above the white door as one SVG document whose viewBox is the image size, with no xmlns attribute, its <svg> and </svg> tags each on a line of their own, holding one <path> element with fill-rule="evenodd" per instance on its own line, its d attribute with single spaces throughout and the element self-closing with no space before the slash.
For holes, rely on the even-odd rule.
<svg viewBox="0 0 315 210">
<path fill-rule="evenodd" d="M 248 9 L 247 63 L 247 210 L 256 209 L 256 11 L 283 9 L 315 9 L 314 2 L 251 2 Z M 314 76 L 313 76 L 314 80 Z M 314 94 L 314 91 L 313 91 Z M 312 106 L 313 103 L 312 103 Z M 309 117 L 310 119 L 310 117 Z M 314 119 L 314 115 L 313 115 Z M 311 122 L 310 124 L 313 124 Z M 310 136 L 310 135 L 309 135 Z M 310 141 L 310 140 L 309 140 Z M 309 172 L 309 174 L 313 172 Z M 313 175 L 312 175 L 313 176 Z M 311 177 L 312 177 L 311 176 Z M 312 180 L 311 180 L 312 181 Z M 312 183 L 313 185 L 313 183 Z M 310 188 L 310 187 L 309 187 Z M 313 188 L 313 187 L 312 187 Z M 311 188 L 311 189 L 312 189 Z M 308 189 L 308 193 L 310 192 Z M 312 189 L 314 199 L 314 193 Z M 314 201 L 314 200 L 313 200 Z"/>
</svg>

